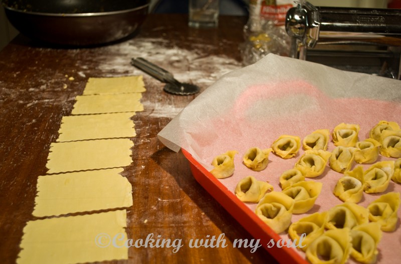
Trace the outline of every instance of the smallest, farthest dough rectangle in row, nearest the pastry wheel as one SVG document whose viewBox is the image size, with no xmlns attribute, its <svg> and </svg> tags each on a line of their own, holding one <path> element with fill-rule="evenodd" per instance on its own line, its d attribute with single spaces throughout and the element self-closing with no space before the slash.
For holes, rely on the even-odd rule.
<svg viewBox="0 0 401 264">
<path fill-rule="evenodd" d="M 145 92 L 142 75 L 89 78 L 83 95 Z"/>
</svg>

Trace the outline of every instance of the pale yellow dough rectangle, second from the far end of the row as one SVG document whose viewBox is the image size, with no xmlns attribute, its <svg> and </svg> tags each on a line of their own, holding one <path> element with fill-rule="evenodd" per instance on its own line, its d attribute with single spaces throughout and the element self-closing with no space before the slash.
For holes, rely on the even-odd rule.
<svg viewBox="0 0 401 264">
<path fill-rule="evenodd" d="M 104 114 L 143 111 L 141 93 L 79 95 L 76 97 L 73 115 Z"/>
</svg>

